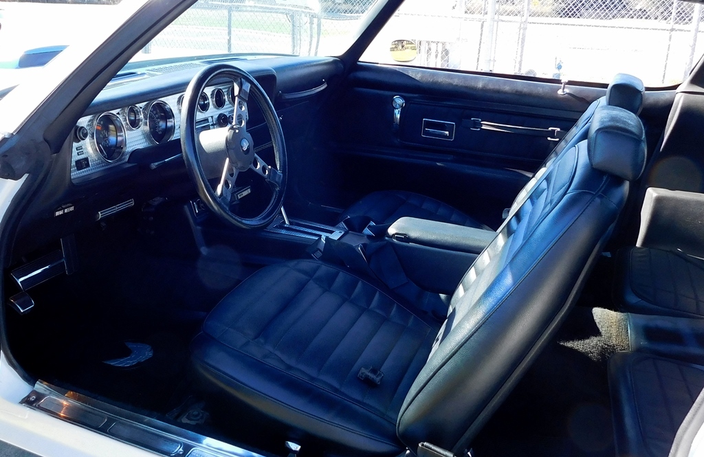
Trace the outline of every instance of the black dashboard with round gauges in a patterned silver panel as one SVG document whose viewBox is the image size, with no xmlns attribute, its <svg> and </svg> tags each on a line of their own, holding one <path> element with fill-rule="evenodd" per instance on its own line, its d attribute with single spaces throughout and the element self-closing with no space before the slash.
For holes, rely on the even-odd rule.
<svg viewBox="0 0 704 457">
<path fill-rule="evenodd" d="M 105 215 L 123 208 L 142 208 L 155 198 L 194 198 L 196 189 L 184 162 L 178 160 L 182 157 L 180 101 L 199 70 L 214 63 L 237 65 L 260 84 L 290 142 L 291 163 L 296 141 L 315 110 L 311 102 L 320 92 L 317 88 L 343 72 L 337 58 L 294 56 L 140 62 L 123 69 L 92 101 L 77 102 L 56 118 L 56 130 L 65 136 L 58 150 L 52 150 L 51 166 L 34 197 L 41 203 L 23 213 L 13 261 L 37 249 L 53 249 L 58 239 L 96 220 L 107 220 Z M 222 79 L 203 89 L 197 130 L 232 122 L 233 88 L 231 80 Z M 247 114 L 248 131 L 257 144 L 263 144 L 269 134 L 260 127 L 263 115 L 258 109 L 248 109 Z"/>
</svg>

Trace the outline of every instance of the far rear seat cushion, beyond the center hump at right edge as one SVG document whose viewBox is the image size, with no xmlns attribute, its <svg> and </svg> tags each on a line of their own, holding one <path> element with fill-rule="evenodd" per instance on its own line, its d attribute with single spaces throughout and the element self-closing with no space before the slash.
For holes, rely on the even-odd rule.
<svg viewBox="0 0 704 457">
<path fill-rule="evenodd" d="M 643 247 L 616 257 L 614 299 L 623 311 L 704 317 L 704 261 L 684 253 Z"/>
</svg>

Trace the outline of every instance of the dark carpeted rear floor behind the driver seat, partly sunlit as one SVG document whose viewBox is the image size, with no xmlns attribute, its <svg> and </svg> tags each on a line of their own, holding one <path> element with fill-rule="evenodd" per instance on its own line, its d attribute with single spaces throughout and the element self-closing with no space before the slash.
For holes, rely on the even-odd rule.
<svg viewBox="0 0 704 457">
<path fill-rule="evenodd" d="M 606 362 L 627 349 L 624 315 L 577 306 L 474 440 L 475 457 L 612 457 Z"/>
</svg>

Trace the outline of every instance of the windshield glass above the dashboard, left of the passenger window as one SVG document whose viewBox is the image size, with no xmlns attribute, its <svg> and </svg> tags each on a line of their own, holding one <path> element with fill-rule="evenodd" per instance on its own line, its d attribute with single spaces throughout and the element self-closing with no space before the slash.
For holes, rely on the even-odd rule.
<svg viewBox="0 0 704 457">
<path fill-rule="evenodd" d="M 199 0 L 133 60 L 210 54 L 337 56 L 377 0 Z"/>
</svg>

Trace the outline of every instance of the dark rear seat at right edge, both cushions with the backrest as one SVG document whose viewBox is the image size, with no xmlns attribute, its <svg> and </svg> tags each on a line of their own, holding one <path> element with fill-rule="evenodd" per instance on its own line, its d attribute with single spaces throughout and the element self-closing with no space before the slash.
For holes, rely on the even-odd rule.
<svg viewBox="0 0 704 457">
<path fill-rule="evenodd" d="M 638 246 L 617 253 L 614 299 L 630 313 L 631 343 L 608 366 L 617 456 L 697 452 L 690 447 L 704 422 L 703 202 L 702 194 L 648 189 Z"/>
</svg>

